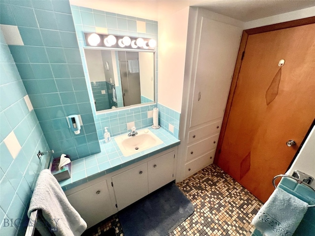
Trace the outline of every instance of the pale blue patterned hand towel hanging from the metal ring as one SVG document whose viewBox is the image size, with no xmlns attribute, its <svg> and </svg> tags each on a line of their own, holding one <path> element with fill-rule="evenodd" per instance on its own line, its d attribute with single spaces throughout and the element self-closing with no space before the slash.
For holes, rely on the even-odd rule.
<svg viewBox="0 0 315 236">
<path fill-rule="evenodd" d="M 281 188 L 276 188 L 252 219 L 252 224 L 264 236 L 292 236 L 307 207 L 307 203 Z"/>
</svg>

